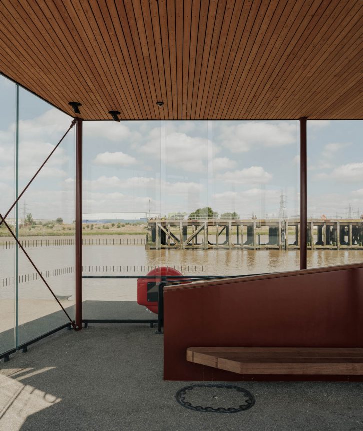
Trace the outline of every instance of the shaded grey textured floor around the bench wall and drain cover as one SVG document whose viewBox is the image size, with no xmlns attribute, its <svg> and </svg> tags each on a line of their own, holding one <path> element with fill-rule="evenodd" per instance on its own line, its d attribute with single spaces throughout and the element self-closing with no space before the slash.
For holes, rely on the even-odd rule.
<svg viewBox="0 0 363 431">
<path fill-rule="evenodd" d="M 7 414 L 0 409 L 0 429 L 363 430 L 362 383 L 240 382 L 256 398 L 250 410 L 187 410 L 175 393 L 189 382 L 163 381 L 162 350 L 162 336 L 154 329 L 129 324 L 64 330 L 34 344 L 28 353 L 2 361 L 0 373 L 43 370 L 33 375 L 23 370 L 20 382 L 47 394 L 44 399 L 61 400 L 28 415 L 20 428 L 4 423 Z M 9 378 L 19 375 L 22 371 Z"/>
</svg>

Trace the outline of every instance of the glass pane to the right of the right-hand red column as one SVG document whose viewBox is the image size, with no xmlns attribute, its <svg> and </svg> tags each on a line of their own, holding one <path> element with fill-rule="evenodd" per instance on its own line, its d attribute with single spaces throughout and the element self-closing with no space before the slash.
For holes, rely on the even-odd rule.
<svg viewBox="0 0 363 431">
<path fill-rule="evenodd" d="M 363 121 L 307 122 L 310 268 L 362 262 L 362 133 Z"/>
</svg>

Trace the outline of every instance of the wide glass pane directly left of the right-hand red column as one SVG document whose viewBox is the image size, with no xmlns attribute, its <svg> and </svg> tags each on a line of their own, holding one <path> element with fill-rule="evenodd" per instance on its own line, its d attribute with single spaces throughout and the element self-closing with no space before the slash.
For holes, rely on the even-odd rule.
<svg viewBox="0 0 363 431">
<path fill-rule="evenodd" d="M 215 274 L 299 268 L 297 136 L 296 121 L 213 122 Z"/>
</svg>

